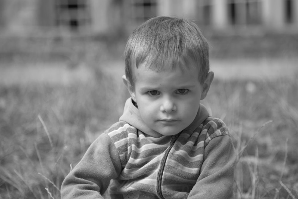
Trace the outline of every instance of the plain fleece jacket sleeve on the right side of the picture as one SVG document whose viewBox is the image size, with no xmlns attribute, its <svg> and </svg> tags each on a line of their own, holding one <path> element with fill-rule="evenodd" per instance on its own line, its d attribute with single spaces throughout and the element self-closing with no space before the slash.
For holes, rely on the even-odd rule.
<svg viewBox="0 0 298 199">
<path fill-rule="evenodd" d="M 205 148 L 200 176 L 188 198 L 233 198 L 236 160 L 236 150 L 229 135 L 210 140 Z"/>
</svg>

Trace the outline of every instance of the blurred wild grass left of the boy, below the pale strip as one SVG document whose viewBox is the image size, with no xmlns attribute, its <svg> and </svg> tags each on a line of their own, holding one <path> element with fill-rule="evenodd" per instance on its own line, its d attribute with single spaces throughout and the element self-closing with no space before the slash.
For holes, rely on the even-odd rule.
<svg viewBox="0 0 298 199">
<path fill-rule="evenodd" d="M 119 117 L 110 81 L 0 87 L 3 198 L 48 198 L 45 188 L 57 198 L 70 164 Z"/>
</svg>

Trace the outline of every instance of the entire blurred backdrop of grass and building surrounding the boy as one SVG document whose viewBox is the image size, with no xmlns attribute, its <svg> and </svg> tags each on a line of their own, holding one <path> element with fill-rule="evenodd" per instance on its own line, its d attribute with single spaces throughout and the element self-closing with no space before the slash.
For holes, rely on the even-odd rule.
<svg viewBox="0 0 298 199">
<path fill-rule="evenodd" d="M 238 150 L 235 198 L 298 198 L 297 0 L 0 0 L 0 198 L 60 198 L 122 114 L 125 42 L 153 16 L 210 43 L 202 103 Z"/>
</svg>

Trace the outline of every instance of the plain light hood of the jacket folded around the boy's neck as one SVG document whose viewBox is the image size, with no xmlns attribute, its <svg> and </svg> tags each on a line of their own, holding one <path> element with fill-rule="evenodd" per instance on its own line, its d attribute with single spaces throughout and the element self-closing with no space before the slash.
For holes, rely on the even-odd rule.
<svg viewBox="0 0 298 199">
<path fill-rule="evenodd" d="M 194 131 L 200 124 L 204 122 L 204 120 L 209 116 L 207 109 L 204 107 L 203 104 L 200 104 L 198 109 L 198 113 L 195 116 L 193 122 L 186 128 L 188 130 Z M 128 98 L 125 102 L 123 115 L 119 118 L 119 121 L 125 121 L 131 126 L 139 129 L 140 131 L 144 132 L 147 135 L 150 135 L 154 138 L 161 137 L 161 135 L 150 129 L 145 122 L 142 120 L 139 109 L 134 106 L 132 103 L 132 99 Z"/>
</svg>

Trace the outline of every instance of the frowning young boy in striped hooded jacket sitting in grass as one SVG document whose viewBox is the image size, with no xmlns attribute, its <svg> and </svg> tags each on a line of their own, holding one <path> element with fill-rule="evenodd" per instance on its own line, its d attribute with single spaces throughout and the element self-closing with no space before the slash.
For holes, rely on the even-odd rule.
<svg viewBox="0 0 298 199">
<path fill-rule="evenodd" d="M 155 17 L 134 30 L 122 77 L 131 98 L 66 176 L 62 198 L 232 198 L 232 140 L 200 104 L 213 76 L 194 23 Z"/>
</svg>

